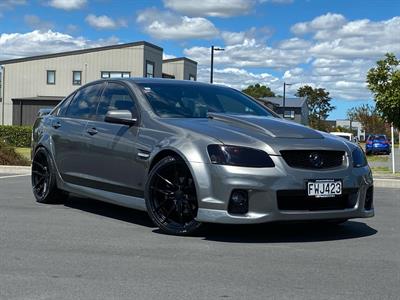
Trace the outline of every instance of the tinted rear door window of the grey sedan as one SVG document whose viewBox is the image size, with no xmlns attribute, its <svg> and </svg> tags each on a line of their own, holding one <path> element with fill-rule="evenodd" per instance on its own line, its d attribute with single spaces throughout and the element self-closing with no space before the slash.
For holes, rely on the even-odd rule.
<svg viewBox="0 0 400 300">
<path fill-rule="evenodd" d="M 67 110 L 71 118 L 90 119 L 96 114 L 99 94 L 103 84 L 93 84 L 79 90 Z"/>
</svg>

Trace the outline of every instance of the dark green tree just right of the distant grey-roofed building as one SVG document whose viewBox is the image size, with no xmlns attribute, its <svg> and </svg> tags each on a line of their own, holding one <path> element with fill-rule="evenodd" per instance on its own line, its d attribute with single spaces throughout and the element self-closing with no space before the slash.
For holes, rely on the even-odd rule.
<svg viewBox="0 0 400 300">
<path fill-rule="evenodd" d="M 326 118 L 329 113 L 335 109 L 330 102 L 329 92 L 323 88 L 313 89 L 309 85 L 300 87 L 296 93 L 297 97 L 305 97 L 309 110 L 308 121 L 312 128 L 326 130 Z"/>
</svg>

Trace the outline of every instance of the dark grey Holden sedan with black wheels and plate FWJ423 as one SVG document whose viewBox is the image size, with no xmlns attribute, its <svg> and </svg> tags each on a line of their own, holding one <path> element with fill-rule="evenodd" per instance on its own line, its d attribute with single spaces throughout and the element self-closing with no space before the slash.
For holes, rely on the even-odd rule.
<svg viewBox="0 0 400 300">
<path fill-rule="evenodd" d="M 203 222 L 343 222 L 374 215 L 363 151 L 245 94 L 168 79 L 87 84 L 33 130 L 38 202 L 74 193 L 147 210 L 164 232 Z"/>
</svg>

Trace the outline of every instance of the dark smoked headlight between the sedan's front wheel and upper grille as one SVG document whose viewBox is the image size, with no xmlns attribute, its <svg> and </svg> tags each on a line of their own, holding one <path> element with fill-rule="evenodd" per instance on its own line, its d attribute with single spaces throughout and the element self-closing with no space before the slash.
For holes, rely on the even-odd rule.
<svg viewBox="0 0 400 300">
<path fill-rule="evenodd" d="M 262 150 L 225 145 L 209 145 L 207 147 L 211 163 L 253 168 L 272 168 L 274 162 Z"/>
</svg>

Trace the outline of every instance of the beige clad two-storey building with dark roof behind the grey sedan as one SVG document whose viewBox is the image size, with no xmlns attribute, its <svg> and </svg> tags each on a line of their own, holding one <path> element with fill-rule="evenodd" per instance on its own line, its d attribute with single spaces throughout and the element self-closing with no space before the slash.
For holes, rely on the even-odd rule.
<svg viewBox="0 0 400 300">
<path fill-rule="evenodd" d="M 0 124 L 32 125 L 40 108 L 53 107 L 81 85 L 100 78 L 196 80 L 195 61 L 162 57 L 161 47 L 140 41 L 0 61 Z"/>
</svg>

